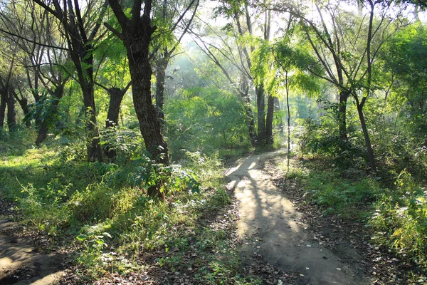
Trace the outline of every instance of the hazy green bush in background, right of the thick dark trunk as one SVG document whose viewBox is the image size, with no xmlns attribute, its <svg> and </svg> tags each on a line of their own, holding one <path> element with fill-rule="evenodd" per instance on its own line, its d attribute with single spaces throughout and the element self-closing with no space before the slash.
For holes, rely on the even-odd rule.
<svg viewBox="0 0 427 285">
<path fill-rule="evenodd" d="M 249 146 L 243 107 L 236 95 L 217 88 L 194 88 L 183 90 L 183 96 L 169 100 L 165 107 L 165 135 L 173 138 L 168 142 L 175 160 L 183 157 L 183 149 L 214 153 L 223 147 Z"/>
</svg>

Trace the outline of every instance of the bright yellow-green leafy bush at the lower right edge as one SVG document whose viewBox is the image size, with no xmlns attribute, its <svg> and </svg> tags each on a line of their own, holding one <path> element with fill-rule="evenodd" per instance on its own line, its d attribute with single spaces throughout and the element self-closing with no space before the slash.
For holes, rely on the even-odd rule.
<svg viewBox="0 0 427 285">
<path fill-rule="evenodd" d="M 396 178 L 395 186 L 375 204 L 370 223 L 374 237 L 399 257 L 427 268 L 427 192 L 406 170 Z"/>
</svg>

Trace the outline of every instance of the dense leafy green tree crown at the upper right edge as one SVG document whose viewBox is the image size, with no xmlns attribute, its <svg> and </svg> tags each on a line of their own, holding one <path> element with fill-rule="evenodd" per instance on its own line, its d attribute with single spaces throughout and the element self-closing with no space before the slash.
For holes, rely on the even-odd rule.
<svg viewBox="0 0 427 285">
<path fill-rule="evenodd" d="M 413 135 L 427 145 L 427 29 L 416 22 L 391 37 L 381 53 L 382 70 L 388 75 L 384 100 L 405 111 L 413 126 Z M 399 102 L 399 103 L 397 103 Z M 406 104 L 404 104 L 406 102 Z M 396 118 L 397 120 L 397 118 Z"/>
</svg>

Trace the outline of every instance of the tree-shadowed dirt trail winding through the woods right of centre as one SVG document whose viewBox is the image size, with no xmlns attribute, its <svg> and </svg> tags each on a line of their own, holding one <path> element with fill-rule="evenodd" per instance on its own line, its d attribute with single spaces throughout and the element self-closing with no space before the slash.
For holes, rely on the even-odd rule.
<svg viewBox="0 0 427 285">
<path fill-rule="evenodd" d="M 253 155 L 228 171 L 228 187 L 241 202 L 238 235 L 244 240 L 243 262 L 259 254 L 285 271 L 298 272 L 300 284 L 370 284 L 362 271 L 316 242 L 309 226 L 300 221 L 302 214 L 263 172 L 263 162 L 278 154 Z M 354 254 L 354 249 L 348 251 Z"/>
</svg>

